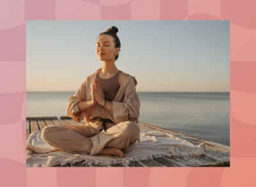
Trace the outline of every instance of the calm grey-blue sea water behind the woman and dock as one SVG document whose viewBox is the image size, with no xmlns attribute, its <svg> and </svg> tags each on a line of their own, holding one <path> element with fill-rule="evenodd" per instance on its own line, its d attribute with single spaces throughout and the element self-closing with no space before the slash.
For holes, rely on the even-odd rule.
<svg viewBox="0 0 256 187">
<path fill-rule="evenodd" d="M 26 116 L 67 116 L 75 92 L 27 92 Z M 230 93 L 138 93 L 140 122 L 230 146 Z"/>
</svg>

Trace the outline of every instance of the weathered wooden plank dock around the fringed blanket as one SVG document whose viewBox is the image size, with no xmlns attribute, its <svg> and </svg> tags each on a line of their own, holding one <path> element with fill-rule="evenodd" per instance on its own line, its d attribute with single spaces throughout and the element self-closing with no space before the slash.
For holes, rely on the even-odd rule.
<svg viewBox="0 0 256 187">
<path fill-rule="evenodd" d="M 72 118 L 68 116 L 61 116 L 60 119 L 57 117 L 27 117 L 26 118 L 26 139 L 28 139 L 29 134 L 34 131 L 42 131 L 45 126 L 51 124 L 76 124 L 84 125 L 86 124 L 82 119 L 81 123 L 76 123 Z M 133 162 L 131 161 L 129 165 L 125 164 L 115 164 L 115 165 L 104 165 L 104 167 L 230 167 L 230 147 L 223 144 L 218 144 L 216 142 L 211 142 L 203 138 L 194 137 L 191 135 L 186 135 L 177 131 L 168 130 L 165 128 L 160 128 L 146 123 L 138 123 L 141 130 L 149 128 L 150 130 L 164 131 L 166 133 L 171 133 L 181 139 L 187 140 L 191 144 L 198 146 L 202 142 L 205 143 L 206 149 L 205 154 L 198 157 L 193 156 L 165 156 L 164 158 L 153 158 L 153 160 L 141 160 Z M 215 151 L 215 152 L 213 152 Z M 214 153 L 214 154 L 212 154 Z M 85 164 L 82 165 L 84 161 L 79 163 L 67 163 L 63 167 L 87 167 Z M 61 167 L 56 165 L 54 167 Z M 103 167 L 102 165 L 92 164 L 92 167 Z"/>
</svg>

